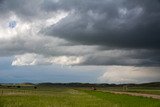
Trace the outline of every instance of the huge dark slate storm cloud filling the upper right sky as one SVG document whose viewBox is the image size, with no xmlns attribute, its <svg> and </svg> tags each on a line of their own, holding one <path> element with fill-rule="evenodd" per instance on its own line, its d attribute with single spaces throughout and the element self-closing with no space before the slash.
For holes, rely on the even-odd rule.
<svg viewBox="0 0 160 107">
<path fill-rule="evenodd" d="M 87 45 L 116 48 L 160 48 L 160 2 L 158 0 L 88 0 L 48 3 L 47 11 L 74 12 L 47 34 Z"/>
</svg>

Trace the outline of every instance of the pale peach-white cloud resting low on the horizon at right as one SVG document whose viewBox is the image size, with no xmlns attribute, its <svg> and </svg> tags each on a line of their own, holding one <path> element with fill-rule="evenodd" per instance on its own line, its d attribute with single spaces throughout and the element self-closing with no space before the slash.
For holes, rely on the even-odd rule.
<svg viewBox="0 0 160 107">
<path fill-rule="evenodd" d="M 117 84 L 143 83 L 159 81 L 159 77 L 158 67 L 109 66 L 98 80 Z"/>
</svg>

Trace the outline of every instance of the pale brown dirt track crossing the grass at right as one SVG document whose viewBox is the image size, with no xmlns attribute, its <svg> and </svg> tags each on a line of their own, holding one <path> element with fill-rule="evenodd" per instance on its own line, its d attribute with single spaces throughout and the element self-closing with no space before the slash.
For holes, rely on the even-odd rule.
<svg viewBox="0 0 160 107">
<path fill-rule="evenodd" d="M 114 92 L 114 91 L 109 91 L 109 92 L 114 93 L 114 94 L 126 94 L 126 95 L 131 95 L 131 96 L 143 96 L 143 97 L 148 97 L 148 98 L 160 99 L 160 95 L 153 95 L 153 94 L 141 94 L 141 93 L 131 93 L 131 92 Z"/>
</svg>

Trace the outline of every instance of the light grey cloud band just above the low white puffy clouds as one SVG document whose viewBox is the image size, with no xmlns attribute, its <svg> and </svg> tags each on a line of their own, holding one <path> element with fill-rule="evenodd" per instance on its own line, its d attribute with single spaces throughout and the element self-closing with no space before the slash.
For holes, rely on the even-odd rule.
<svg viewBox="0 0 160 107">
<path fill-rule="evenodd" d="M 31 37 L 15 37 L 11 40 L 0 40 L 0 56 L 13 56 L 25 53 L 37 53 L 44 56 L 71 55 L 66 53 L 65 48 L 60 46 L 67 42 L 53 38 L 40 38 L 38 36 Z"/>
</svg>

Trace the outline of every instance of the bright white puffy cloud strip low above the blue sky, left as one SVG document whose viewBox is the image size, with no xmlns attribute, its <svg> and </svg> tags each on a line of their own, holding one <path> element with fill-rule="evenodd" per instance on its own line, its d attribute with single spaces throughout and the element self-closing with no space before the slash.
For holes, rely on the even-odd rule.
<svg viewBox="0 0 160 107">
<path fill-rule="evenodd" d="M 12 66 L 28 66 L 28 65 L 47 65 L 47 64 L 60 64 L 60 65 L 76 65 L 82 63 L 82 57 L 77 56 L 57 56 L 57 57 L 44 57 L 35 53 L 26 53 L 23 55 L 16 55 Z"/>
</svg>

